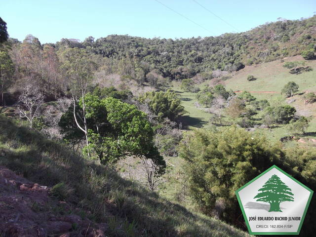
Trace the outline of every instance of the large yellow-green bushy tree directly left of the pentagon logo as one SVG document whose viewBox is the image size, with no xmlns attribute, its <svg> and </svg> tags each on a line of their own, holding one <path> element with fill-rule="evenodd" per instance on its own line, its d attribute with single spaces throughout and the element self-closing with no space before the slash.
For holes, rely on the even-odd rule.
<svg viewBox="0 0 316 237">
<path fill-rule="evenodd" d="M 189 194 L 204 213 L 236 223 L 241 212 L 235 190 L 284 159 L 277 146 L 267 144 L 266 138 L 235 126 L 184 136 L 180 156 L 186 160 Z"/>
</svg>

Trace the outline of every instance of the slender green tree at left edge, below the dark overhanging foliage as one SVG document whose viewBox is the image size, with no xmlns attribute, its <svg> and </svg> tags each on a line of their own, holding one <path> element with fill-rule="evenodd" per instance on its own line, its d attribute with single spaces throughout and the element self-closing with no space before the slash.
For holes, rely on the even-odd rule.
<svg viewBox="0 0 316 237">
<path fill-rule="evenodd" d="M 13 62 L 7 52 L 0 52 L 1 102 L 4 105 L 3 92 L 9 86 L 13 74 Z"/>
</svg>

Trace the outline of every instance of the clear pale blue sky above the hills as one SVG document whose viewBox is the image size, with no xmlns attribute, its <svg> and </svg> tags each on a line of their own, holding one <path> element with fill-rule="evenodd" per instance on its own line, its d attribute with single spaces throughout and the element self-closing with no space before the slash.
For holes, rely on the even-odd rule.
<svg viewBox="0 0 316 237">
<path fill-rule="evenodd" d="M 41 43 L 112 34 L 190 38 L 244 32 L 278 17 L 311 17 L 316 0 L 0 0 L 10 37 L 32 34 Z M 233 28 L 232 26 L 235 28 Z M 204 29 L 203 29 L 204 28 Z M 237 31 L 237 30 L 238 31 Z"/>
</svg>

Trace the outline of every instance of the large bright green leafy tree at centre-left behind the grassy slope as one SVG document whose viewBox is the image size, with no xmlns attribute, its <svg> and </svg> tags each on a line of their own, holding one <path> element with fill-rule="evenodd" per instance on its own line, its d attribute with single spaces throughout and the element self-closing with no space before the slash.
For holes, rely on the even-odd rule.
<svg viewBox="0 0 316 237">
<path fill-rule="evenodd" d="M 164 172 L 165 162 L 153 144 L 154 130 L 145 113 L 112 97 L 99 99 L 88 93 L 84 100 L 91 157 L 113 164 L 124 156 L 143 156 L 159 166 L 158 174 Z M 82 106 L 80 100 L 80 110 Z M 61 117 L 59 126 L 68 140 L 83 139 L 72 114 L 73 109 L 69 108 Z"/>
</svg>

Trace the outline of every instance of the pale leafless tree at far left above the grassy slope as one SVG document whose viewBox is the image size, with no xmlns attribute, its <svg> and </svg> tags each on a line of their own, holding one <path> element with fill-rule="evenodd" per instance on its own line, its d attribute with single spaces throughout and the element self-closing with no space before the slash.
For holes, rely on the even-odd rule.
<svg viewBox="0 0 316 237">
<path fill-rule="evenodd" d="M 27 118 L 32 128 L 34 118 L 39 116 L 40 106 L 44 102 L 44 97 L 38 87 L 27 85 L 19 96 L 20 105 L 18 111 L 21 118 Z"/>
</svg>

